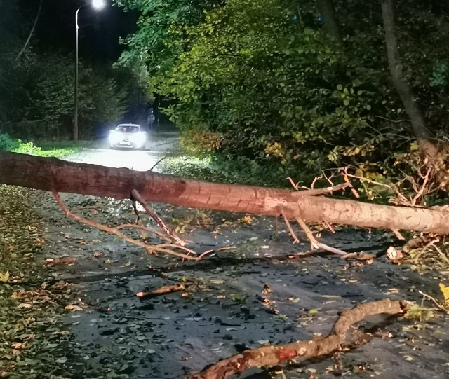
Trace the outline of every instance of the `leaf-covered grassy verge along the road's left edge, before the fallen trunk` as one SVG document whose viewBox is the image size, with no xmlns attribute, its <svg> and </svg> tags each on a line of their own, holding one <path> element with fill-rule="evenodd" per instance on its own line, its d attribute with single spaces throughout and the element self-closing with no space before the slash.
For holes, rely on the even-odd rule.
<svg viewBox="0 0 449 379">
<path fill-rule="evenodd" d="M 72 296 L 51 282 L 45 244 L 29 192 L 0 186 L 0 378 L 69 378 L 60 314 Z"/>
</svg>

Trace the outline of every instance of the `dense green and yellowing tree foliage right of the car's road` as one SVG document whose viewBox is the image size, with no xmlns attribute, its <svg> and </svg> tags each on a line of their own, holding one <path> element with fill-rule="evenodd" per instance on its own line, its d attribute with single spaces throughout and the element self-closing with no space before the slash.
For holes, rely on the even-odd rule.
<svg viewBox="0 0 449 379">
<path fill-rule="evenodd" d="M 352 165 L 380 180 L 415 151 L 380 2 L 327 1 L 341 40 L 312 0 L 118 3 L 142 14 L 121 63 L 140 62 L 149 91 L 171 99 L 166 112 L 197 150 L 286 172 Z M 395 11 L 405 79 L 427 125 L 445 135 L 449 9 L 399 0 Z"/>
</svg>

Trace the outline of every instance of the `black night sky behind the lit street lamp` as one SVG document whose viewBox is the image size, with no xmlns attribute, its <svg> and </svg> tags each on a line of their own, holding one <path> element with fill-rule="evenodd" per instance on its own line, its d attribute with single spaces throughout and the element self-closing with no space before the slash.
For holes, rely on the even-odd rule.
<svg viewBox="0 0 449 379">
<path fill-rule="evenodd" d="M 34 19 L 38 0 L 20 0 L 22 11 L 29 20 Z M 79 11 L 79 58 L 97 62 L 115 62 L 123 46 L 119 38 L 135 30 L 137 15 L 123 12 L 105 0 L 107 6 L 95 11 L 90 5 Z M 36 25 L 35 41 L 48 48 L 75 51 L 76 9 L 90 4 L 88 0 L 43 0 L 41 15 Z"/>
</svg>

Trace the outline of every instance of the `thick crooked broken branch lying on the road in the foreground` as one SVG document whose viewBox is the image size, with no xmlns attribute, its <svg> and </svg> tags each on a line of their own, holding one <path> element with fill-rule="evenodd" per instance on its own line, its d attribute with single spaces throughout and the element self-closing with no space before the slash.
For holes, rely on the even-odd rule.
<svg viewBox="0 0 449 379">
<path fill-rule="evenodd" d="M 408 305 L 404 301 L 390 301 L 389 299 L 359 304 L 355 308 L 342 312 L 340 318 L 335 322 L 333 330 L 326 338 L 246 350 L 242 354 L 223 359 L 200 373 L 190 375 L 188 379 L 222 379 L 243 373 L 250 368 L 274 367 L 288 359 L 321 357 L 332 354 L 339 351 L 342 345 L 348 343 L 347 332 L 352 325 L 363 321 L 368 316 L 382 313 L 403 315 L 407 307 Z"/>
</svg>

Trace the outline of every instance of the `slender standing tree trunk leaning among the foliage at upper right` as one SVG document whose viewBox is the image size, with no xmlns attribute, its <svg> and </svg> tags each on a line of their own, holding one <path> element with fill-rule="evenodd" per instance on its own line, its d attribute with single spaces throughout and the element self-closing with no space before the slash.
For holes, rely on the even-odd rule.
<svg viewBox="0 0 449 379">
<path fill-rule="evenodd" d="M 398 50 L 398 39 L 394 23 L 394 0 L 382 0 L 382 19 L 384 21 L 385 44 L 387 46 L 388 66 L 394 87 L 398 92 L 420 149 L 429 157 L 435 158 L 438 148 L 431 142 L 432 135 L 426 127 L 420 106 L 415 101 L 415 95 L 403 76 L 401 56 Z"/>
</svg>

